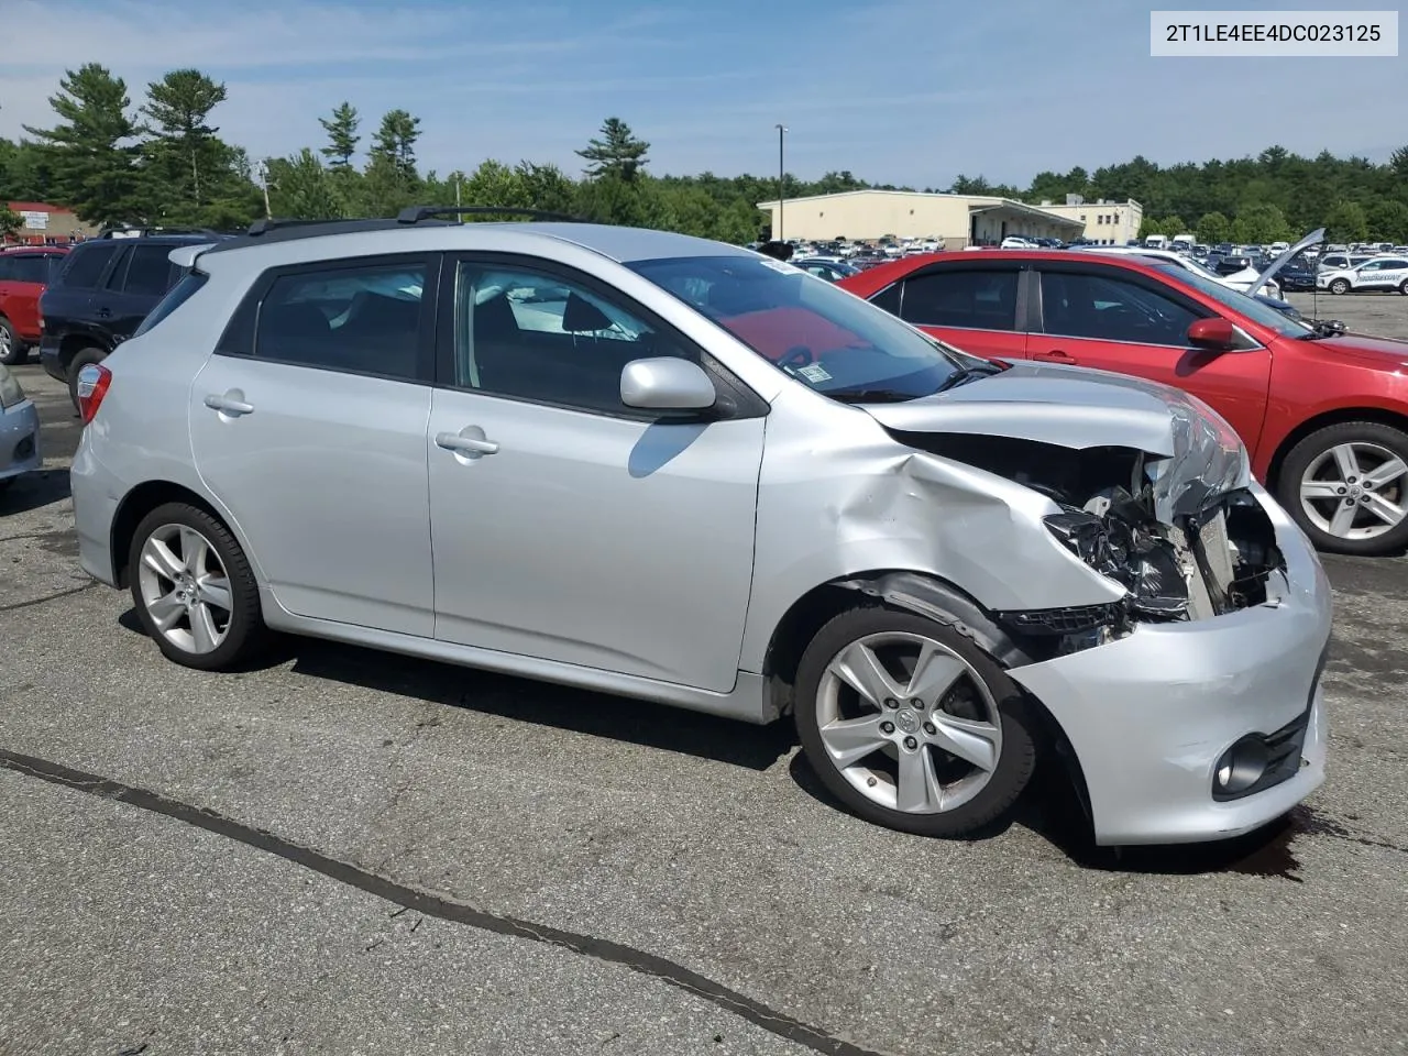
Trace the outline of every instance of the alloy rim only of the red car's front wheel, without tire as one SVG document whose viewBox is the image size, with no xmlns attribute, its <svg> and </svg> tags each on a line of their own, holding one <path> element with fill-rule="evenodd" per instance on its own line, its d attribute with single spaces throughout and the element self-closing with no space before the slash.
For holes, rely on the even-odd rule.
<svg viewBox="0 0 1408 1056">
<path fill-rule="evenodd" d="M 1326 448 L 1301 476 L 1301 508 L 1338 539 L 1373 539 L 1408 517 L 1408 465 L 1388 448 L 1362 441 Z"/>
</svg>

